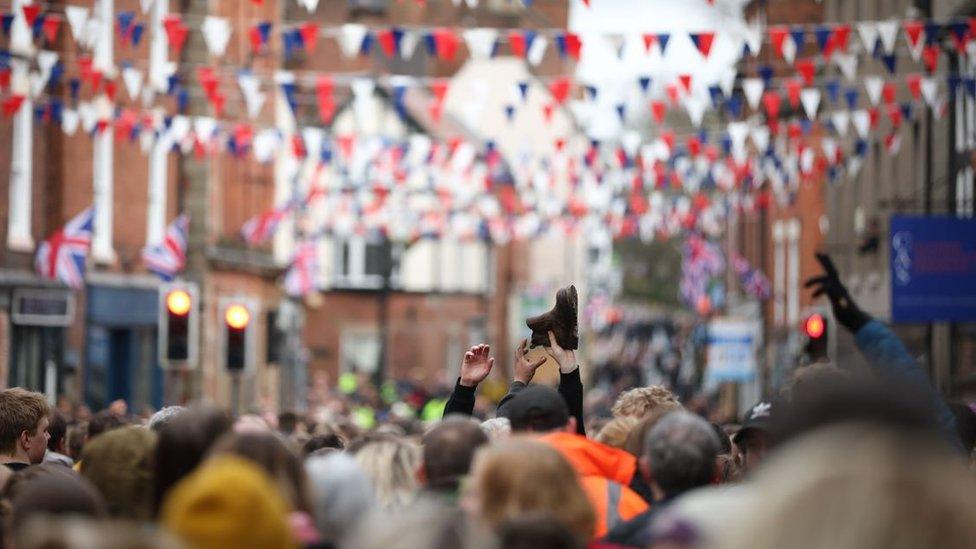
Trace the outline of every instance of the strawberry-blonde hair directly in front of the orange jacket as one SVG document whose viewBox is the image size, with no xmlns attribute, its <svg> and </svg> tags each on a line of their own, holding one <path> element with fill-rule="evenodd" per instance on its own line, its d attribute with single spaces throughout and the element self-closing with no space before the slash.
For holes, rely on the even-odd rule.
<svg viewBox="0 0 976 549">
<path fill-rule="evenodd" d="M 576 471 L 555 449 L 525 437 L 483 448 L 469 488 L 492 527 L 528 513 L 544 512 L 583 541 L 596 532 L 596 515 Z"/>
</svg>

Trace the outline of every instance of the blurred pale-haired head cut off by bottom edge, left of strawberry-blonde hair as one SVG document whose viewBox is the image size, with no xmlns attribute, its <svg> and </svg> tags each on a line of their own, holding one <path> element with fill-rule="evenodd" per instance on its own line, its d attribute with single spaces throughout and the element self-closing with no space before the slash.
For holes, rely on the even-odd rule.
<svg viewBox="0 0 976 549">
<path fill-rule="evenodd" d="M 359 524 L 349 549 L 495 549 L 483 525 L 440 501 L 421 499 L 394 513 L 374 511 Z"/>
</svg>

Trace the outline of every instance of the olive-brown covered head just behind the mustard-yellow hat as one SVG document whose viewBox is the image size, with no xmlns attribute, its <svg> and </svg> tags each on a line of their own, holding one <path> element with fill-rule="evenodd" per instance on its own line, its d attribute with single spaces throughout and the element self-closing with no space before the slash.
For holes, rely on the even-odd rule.
<svg viewBox="0 0 976 549">
<path fill-rule="evenodd" d="M 156 433 L 129 426 L 103 433 L 85 445 L 81 474 L 98 488 L 116 518 L 152 518 Z"/>
</svg>

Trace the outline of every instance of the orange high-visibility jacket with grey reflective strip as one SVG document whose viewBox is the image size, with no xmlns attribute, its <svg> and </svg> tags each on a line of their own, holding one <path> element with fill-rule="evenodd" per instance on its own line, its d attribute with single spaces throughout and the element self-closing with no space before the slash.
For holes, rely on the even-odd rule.
<svg viewBox="0 0 976 549">
<path fill-rule="evenodd" d="M 542 441 L 558 450 L 579 474 L 596 513 L 597 538 L 648 509 L 647 502 L 628 488 L 637 472 L 634 456 L 571 433 L 550 433 Z"/>
</svg>

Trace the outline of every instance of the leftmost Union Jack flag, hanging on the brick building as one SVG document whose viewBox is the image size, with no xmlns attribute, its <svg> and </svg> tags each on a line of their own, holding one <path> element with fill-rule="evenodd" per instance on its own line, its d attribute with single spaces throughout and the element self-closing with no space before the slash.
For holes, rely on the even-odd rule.
<svg viewBox="0 0 976 549">
<path fill-rule="evenodd" d="M 45 240 L 34 257 L 37 274 L 60 280 L 76 290 L 83 287 L 94 220 L 94 208 L 87 208 Z"/>
</svg>

